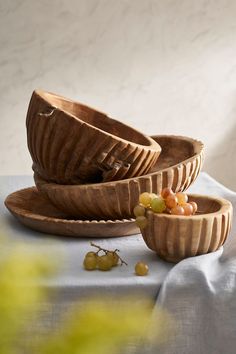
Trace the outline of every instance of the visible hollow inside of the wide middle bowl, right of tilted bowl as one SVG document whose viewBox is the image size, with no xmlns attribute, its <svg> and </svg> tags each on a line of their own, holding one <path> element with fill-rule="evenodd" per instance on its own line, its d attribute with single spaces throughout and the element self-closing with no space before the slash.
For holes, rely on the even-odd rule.
<svg viewBox="0 0 236 354">
<path fill-rule="evenodd" d="M 162 151 L 150 173 L 177 165 L 198 153 L 194 141 L 185 137 L 163 135 L 152 138 L 161 146 Z"/>
</svg>

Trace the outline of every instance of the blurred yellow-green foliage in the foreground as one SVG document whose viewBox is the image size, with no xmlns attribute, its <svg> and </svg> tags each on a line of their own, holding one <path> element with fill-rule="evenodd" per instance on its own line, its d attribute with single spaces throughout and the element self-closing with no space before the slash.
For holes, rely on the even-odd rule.
<svg viewBox="0 0 236 354">
<path fill-rule="evenodd" d="M 47 259 L 21 247 L 0 257 L 0 353 L 19 354 L 17 343 L 24 338 L 28 314 L 40 310 L 46 300 L 45 287 L 37 279 L 50 274 L 54 266 Z M 159 311 L 150 326 L 152 305 L 135 299 L 103 299 L 78 303 L 30 354 L 113 354 L 131 338 L 144 339 L 150 331 L 155 340 L 163 336 L 166 315 Z M 32 316 L 31 316 L 32 318 Z M 164 328 L 165 331 L 165 328 Z M 27 338 L 24 338 L 27 341 Z M 28 353 L 28 352 L 27 352 Z"/>
</svg>

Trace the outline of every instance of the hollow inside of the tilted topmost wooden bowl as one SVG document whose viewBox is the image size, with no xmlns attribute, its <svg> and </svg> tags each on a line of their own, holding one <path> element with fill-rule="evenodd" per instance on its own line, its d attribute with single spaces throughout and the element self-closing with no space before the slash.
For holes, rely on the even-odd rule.
<svg viewBox="0 0 236 354">
<path fill-rule="evenodd" d="M 80 120 L 107 133 L 131 141 L 135 144 L 144 146 L 151 145 L 151 141 L 145 135 L 93 108 L 49 92 L 40 91 L 40 96 L 52 106 L 78 117 Z"/>
</svg>

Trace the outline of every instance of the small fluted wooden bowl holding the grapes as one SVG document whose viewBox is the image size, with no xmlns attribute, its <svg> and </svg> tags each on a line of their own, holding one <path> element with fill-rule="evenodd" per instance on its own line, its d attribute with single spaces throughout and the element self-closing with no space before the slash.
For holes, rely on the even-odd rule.
<svg viewBox="0 0 236 354">
<path fill-rule="evenodd" d="M 216 251 L 229 234 L 232 205 L 222 198 L 189 195 L 198 204 L 192 216 L 147 212 L 148 225 L 141 230 L 146 245 L 168 262 L 179 262 Z"/>
</svg>

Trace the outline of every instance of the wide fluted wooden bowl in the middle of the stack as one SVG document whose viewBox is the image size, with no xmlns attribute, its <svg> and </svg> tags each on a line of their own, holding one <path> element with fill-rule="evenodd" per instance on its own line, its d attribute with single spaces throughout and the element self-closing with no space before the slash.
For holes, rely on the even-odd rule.
<svg viewBox="0 0 236 354">
<path fill-rule="evenodd" d="M 69 215 L 78 218 L 130 218 L 142 192 L 160 193 L 164 187 L 179 192 L 196 179 L 202 166 L 203 144 L 179 136 L 153 137 L 162 153 L 152 173 L 121 181 L 89 185 L 58 185 L 35 175 L 37 188 Z"/>
</svg>

